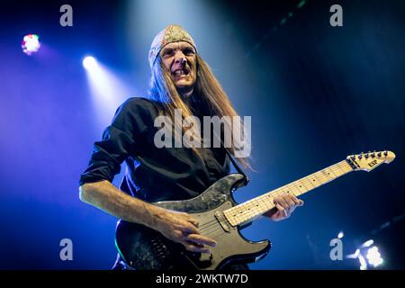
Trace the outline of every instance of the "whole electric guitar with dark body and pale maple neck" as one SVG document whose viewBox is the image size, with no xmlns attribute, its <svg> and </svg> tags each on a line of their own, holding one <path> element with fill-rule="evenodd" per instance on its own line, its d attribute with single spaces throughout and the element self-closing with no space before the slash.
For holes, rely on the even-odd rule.
<svg viewBox="0 0 405 288">
<path fill-rule="evenodd" d="M 124 261 L 137 270 L 214 270 L 229 263 L 256 262 L 266 257 L 270 241 L 249 241 L 239 230 L 267 211 L 276 211 L 273 198 L 277 193 L 300 196 L 349 172 L 369 172 L 383 163 L 391 163 L 394 158 L 391 151 L 351 155 L 335 165 L 240 204 L 232 197 L 232 192 L 244 185 L 244 176 L 240 174 L 221 178 L 193 199 L 153 203 L 190 213 L 198 219 L 201 234 L 217 242 L 216 247 L 210 247 L 211 255 L 187 251 L 183 245 L 154 229 L 124 220 L 117 223 L 115 244 Z"/>
</svg>

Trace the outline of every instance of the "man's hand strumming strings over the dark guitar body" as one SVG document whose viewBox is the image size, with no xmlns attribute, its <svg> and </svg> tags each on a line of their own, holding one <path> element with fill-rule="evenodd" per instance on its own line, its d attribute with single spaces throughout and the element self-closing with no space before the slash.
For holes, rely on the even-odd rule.
<svg viewBox="0 0 405 288">
<path fill-rule="evenodd" d="M 162 210 L 158 213 L 157 231 L 170 240 L 181 243 L 192 252 L 211 253 L 209 247 L 216 242 L 202 236 L 198 230 L 198 220 L 185 212 Z"/>
</svg>

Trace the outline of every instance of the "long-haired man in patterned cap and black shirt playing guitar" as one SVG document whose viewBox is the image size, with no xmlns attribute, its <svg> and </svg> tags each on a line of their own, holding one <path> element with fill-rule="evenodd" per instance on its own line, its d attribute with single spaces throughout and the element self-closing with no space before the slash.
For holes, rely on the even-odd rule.
<svg viewBox="0 0 405 288">
<path fill-rule="evenodd" d="M 150 99 L 130 98 L 123 103 L 104 130 L 103 140 L 94 143 L 89 166 L 80 178 L 80 199 L 121 220 L 155 229 L 187 250 L 209 253 L 216 243 L 199 232 L 198 220 L 149 202 L 195 197 L 229 174 L 229 157 L 223 147 L 157 148 L 154 121 L 167 115 L 174 126 L 184 130 L 175 122 L 175 109 L 183 119 L 237 113 L 182 27 L 169 25 L 160 31 L 148 59 L 152 69 Z M 234 152 L 235 148 L 229 150 Z M 119 190 L 111 182 L 123 161 L 128 170 Z M 238 162 L 248 166 L 246 158 L 238 158 Z M 302 205 L 287 193 L 275 197 L 275 202 L 277 211 L 267 215 L 273 220 L 289 217 Z"/>
</svg>

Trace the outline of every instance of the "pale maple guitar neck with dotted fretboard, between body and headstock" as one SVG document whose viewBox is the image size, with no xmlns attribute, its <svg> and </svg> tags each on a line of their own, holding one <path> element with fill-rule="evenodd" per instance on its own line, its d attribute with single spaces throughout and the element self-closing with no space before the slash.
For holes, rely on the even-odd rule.
<svg viewBox="0 0 405 288">
<path fill-rule="evenodd" d="M 293 193 L 295 196 L 300 196 L 351 171 L 353 171 L 353 168 L 347 163 L 347 160 L 343 160 L 283 187 L 229 208 L 224 211 L 224 215 L 232 226 L 246 224 L 257 219 L 266 211 L 274 209 L 275 203 L 273 200 L 278 193 Z"/>
</svg>

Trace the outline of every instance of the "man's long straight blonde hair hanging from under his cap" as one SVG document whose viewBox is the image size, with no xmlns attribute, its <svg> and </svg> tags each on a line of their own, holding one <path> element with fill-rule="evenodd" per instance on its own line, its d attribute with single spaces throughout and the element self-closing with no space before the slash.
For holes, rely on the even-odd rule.
<svg viewBox="0 0 405 288">
<path fill-rule="evenodd" d="M 195 54 L 195 57 L 197 79 L 194 91 L 202 97 L 205 103 L 207 103 L 208 108 L 211 110 L 211 116 L 229 116 L 231 119 L 238 116 L 238 113 L 229 101 L 228 95 L 223 90 L 220 82 L 213 75 L 211 67 L 209 67 L 209 65 L 198 54 Z M 183 119 L 188 116 L 193 116 L 193 113 L 188 105 L 184 103 L 180 94 L 178 94 L 175 84 L 171 79 L 170 71 L 164 66 L 160 57 L 157 57 L 155 64 L 152 67 L 149 94 L 153 100 L 161 104 L 159 114 L 168 115 L 172 119 L 174 125 L 182 127 L 183 132 L 188 129 L 196 129 L 196 127 L 193 126 L 186 128 L 183 127 L 182 122 L 175 122 L 175 109 L 179 109 L 182 112 Z M 241 127 L 243 129 L 243 122 L 241 122 Z M 193 135 L 199 135 L 199 133 L 193 133 Z M 193 151 L 201 157 L 198 149 L 199 148 L 193 148 Z M 235 149 L 234 143 L 232 143 L 232 146 L 229 148 L 230 152 L 235 154 Z M 248 157 L 237 157 L 237 160 L 245 168 L 251 168 Z"/>
</svg>

